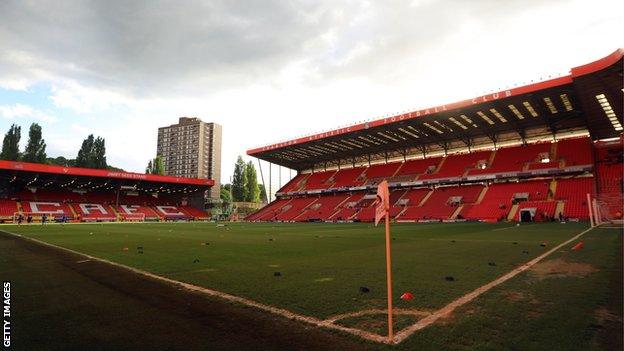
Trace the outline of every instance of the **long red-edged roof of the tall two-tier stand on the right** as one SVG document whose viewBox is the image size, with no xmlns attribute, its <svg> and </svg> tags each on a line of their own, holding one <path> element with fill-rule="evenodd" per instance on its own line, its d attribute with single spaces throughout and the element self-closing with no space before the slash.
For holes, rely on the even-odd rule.
<svg viewBox="0 0 624 351">
<path fill-rule="evenodd" d="M 251 149 L 250 156 L 297 170 L 408 154 L 448 152 L 513 140 L 589 132 L 622 134 L 624 50 L 570 74 Z"/>
</svg>

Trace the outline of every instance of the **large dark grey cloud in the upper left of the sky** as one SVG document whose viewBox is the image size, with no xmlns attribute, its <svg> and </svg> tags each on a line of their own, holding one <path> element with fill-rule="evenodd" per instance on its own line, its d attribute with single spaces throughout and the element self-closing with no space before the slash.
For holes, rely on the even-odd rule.
<svg viewBox="0 0 624 351">
<path fill-rule="evenodd" d="M 11 53 L 0 56 L 0 81 L 15 69 L 36 79 L 40 68 L 140 97 L 216 91 L 265 79 L 301 55 L 331 26 L 329 4 L 3 2 L 0 39 Z"/>
</svg>

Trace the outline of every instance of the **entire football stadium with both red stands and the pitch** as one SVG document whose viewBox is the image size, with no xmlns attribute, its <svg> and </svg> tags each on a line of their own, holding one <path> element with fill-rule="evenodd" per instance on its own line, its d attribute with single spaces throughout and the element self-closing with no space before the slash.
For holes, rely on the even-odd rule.
<svg viewBox="0 0 624 351">
<path fill-rule="evenodd" d="M 0 161 L 12 347 L 617 349 L 623 56 L 250 149 L 296 175 L 236 220 L 211 179 Z"/>
</svg>

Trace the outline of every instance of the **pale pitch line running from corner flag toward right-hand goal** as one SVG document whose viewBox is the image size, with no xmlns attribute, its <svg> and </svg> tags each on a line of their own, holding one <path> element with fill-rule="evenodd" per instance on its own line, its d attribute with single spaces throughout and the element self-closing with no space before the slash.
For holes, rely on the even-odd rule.
<svg viewBox="0 0 624 351">
<path fill-rule="evenodd" d="M 438 319 L 442 318 L 442 317 L 446 317 L 448 315 L 450 315 L 457 307 L 463 306 L 465 304 L 467 304 L 468 302 L 474 300 L 476 297 L 478 297 L 479 295 L 483 294 L 484 292 L 492 289 L 493 287 L 502 284 L 504 282 L 506 282 L 507 280 L 515 277 L 516 275 L 526 271 L 527 269 L 531 268 L 532 266 L 534 266 L 535 264 L 537 264 L 539 261 L 543 260 L 544 258 L 546 258 L 547 256 L 549 256 L 550 254 L 552 254 L 553 252 L 559 250 L 560 248 L 568 245 L 569 243 L 573 242 L 574 240 L 580 238 L 581 236 L 583 236 L 585 233 L 589 232 L 590 230 L 594 229 L 589 228 L 586 229 L 584 231 L 582 231 L 581 233 L 573 236 L 572 238 L 568 239 L 567 241 L 553 247 L 552 249 L 550 249 L 549 251 L 537 256 L 536 258 L 532 259 L 531 261 L 523 264 L 522 266 L 512 270 L 509 273 L 506 273 L 505 275 L 501 276 L 500 278 L 493 280 L 475 290 L 473 290 L 472 292 L 469 292 L 468 294 L 456 299 L 455 301 L 449 303 L 448 305 L 442 307 L 441 309 L 439 309 L 438 311 L 434 312 L 433 314 L 431 314 L 428 317 L 425 317 L 421 320 L 419 320 L 418 322 L 412 324 L 411 326 L 401 330 L 400 332 L 398 332 L 393 340 L 394 344 L 398 344 L 400 342 L 402 342 L 403 340 L 405 340 L 407 337 L 409 337 L 410 335 L 414 334 L 415 332 L 417 332 L 418 330 L 421 330 L 431 324 L 433 324 L 435 321 L 437 321 Z"/>
</svg>

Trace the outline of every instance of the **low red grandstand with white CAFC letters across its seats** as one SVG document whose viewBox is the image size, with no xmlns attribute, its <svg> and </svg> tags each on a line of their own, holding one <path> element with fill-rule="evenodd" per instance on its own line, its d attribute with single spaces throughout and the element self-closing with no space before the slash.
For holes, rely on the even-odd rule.
<svg viewBox="0 0 624 351">
<path fill-rule="evenodd" d="M 0 160 L 0 222 L 206 220 L 214 182 Z"/>
</svg>

